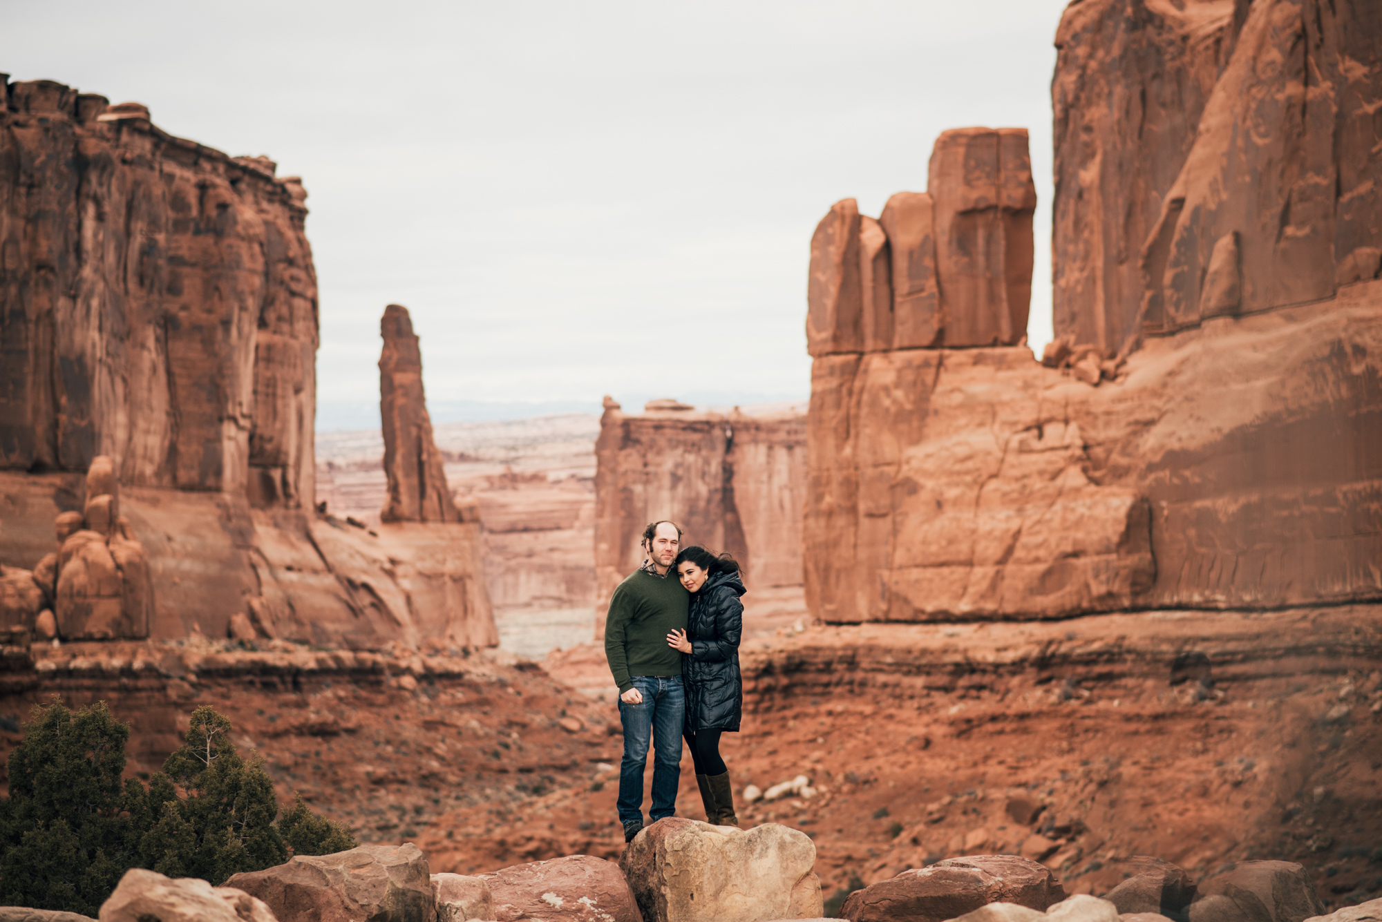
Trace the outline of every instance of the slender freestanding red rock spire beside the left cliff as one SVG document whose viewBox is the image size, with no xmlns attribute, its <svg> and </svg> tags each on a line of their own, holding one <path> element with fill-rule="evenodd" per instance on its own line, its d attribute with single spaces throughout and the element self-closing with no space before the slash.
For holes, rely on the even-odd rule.
<svg viewBox="0 0 1382 922">
<path fill-rule="evenodd" d="M 388 500 L 380 519 L 459 522 L 441 468 L 441 451 L 433 440 L 423 393 L 423 356 L 408 308 L 388 305 L 379 330 L 384 337 L 384 351 L 379 356 L 379 414 L 388 478 Z"/>
</svg>

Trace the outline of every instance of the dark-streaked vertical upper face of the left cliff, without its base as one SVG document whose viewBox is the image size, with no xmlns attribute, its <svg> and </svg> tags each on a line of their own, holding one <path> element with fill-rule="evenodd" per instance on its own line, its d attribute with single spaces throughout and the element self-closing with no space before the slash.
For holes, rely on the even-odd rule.
<svg viewBox="0 0 1382 922">
<path fill-rule="evenodd" d="M 311 500 L 305 193 L 51 80 L 0 84 L 0 468 Z M 82 168 L 75 168 L 82 163 Z"/>
</svg>

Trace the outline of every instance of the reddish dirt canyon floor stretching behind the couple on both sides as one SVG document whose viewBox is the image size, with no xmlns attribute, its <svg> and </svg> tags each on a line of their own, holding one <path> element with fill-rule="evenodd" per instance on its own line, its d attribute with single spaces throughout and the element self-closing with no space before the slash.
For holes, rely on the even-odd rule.
<svg viewBox="0 0 1382 922">
<path fill-rule="evenodd" d="M 797 627 L 745 642 L 724 755 L 738 791 L 810 778 L 814 796 L 739 818 L 807 831 L 828 894 L 988 852 L 1043 860 L 1072 892 L 1111 887 L 1126 854 L 1200 876 L 1300 861 L 1329 905 L 1382 890 L 1382 606 Z M 7 752 L 32 704 L 104 698 L 148 774 L 206 703 L 283 799 L 416 841 L 434 871 L 623 847 L 590 643 L 542 665 L 227 642 L 7 647 L 4 664 Z M 690 759 L 677 813 L 703 816 Z"/>
</svg>

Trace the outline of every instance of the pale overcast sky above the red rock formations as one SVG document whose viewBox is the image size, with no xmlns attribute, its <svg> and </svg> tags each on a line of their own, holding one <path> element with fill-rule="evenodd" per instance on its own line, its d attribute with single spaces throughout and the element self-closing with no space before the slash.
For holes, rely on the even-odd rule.
<svg viewBox="0 0 1382 922">
<path fill-rule="evenodd" d="M 373 428 L 390 302 L 442 420 L 804 398 L 817 221 L 963 126 L 1031 131 L 1039 351 L 1063 7 L 6 0 L 0 70 L 301 175 L 319 425 Z"/>
</svg>

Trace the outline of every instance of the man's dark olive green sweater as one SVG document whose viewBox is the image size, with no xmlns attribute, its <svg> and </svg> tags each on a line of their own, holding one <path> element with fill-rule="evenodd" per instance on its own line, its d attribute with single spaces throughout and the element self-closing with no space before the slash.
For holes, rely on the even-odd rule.
<svg viewBox="0 0 1382 922">
<path fill-rule="evenodd" d="M 681 654 L 668 646 L 668 635 L 687 629 L 690 607 L 691 594 L 676 573 L 634 570 L 619 584 L 605 618 L 605 658 L 619 694 L 633 687 L 634 675 L 681 675 Z"/>
</svg>

